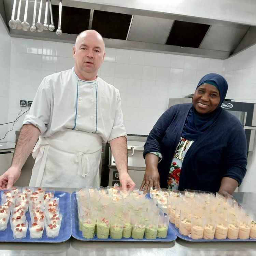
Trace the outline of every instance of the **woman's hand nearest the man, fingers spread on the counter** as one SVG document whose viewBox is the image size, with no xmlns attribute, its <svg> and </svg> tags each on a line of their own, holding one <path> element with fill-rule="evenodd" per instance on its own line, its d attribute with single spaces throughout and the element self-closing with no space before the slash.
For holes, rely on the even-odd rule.
<svg viewBox="0 0 256 256">
<path fill-rule="evenodd" d="M 157 167 L 155 167 L 155 166 L 146 167 L 144 178 L 143 178 L 143 181 L 140 186 L 140 191 L 142 191 L 144 185 L 145 185 L 144 194 L 147 193 L 148 187 L 159 187 L 160 188 L 159 172 L 158 172 Z"/>
</svg>

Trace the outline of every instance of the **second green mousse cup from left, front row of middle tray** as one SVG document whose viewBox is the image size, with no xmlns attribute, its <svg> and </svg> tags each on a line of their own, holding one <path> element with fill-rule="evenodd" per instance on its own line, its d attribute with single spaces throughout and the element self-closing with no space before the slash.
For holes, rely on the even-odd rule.
<svg viewBox="0 0 256 256">
<path fill-rule="evenodd" d="M 97 218 L 97 238 L 106 239 L 109 237 L 110 230 L 110 214 L 108 212 L 99 211 Z"/>
</svg>

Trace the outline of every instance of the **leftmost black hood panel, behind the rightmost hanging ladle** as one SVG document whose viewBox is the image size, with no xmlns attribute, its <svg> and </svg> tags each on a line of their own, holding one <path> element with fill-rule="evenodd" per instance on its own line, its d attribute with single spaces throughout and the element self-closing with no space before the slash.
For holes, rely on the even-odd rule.
<svg viewBox="0 0 256 256">
<path fill-rule="evenodd" d="M 52 5 L 55 30 L 58 28 L 59 5 Z M 88 29 L 90 10 L 62 6 L 61 30 L 67 34 L 79 34 Z M 54 31 L 55 31 L 54 30 Z"/>
</svg>

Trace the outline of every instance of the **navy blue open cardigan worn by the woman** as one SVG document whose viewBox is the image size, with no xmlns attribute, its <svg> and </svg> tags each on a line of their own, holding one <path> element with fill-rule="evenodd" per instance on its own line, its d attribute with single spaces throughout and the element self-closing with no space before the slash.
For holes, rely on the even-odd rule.
<svg viewBox="0 0 256 256">
<path fill-rule="evenodd" d="M 167 187 L 171 161 L 192 103 L 177 104 L 158 119 L 144 145 L 143 156 L 160 152 L 160 187 Z M 246 173 L 246 138 L 239 120 L 222 110 L 218 119 L 188 149 L 181 168 L 179 190 L 217 192 L 223 177 L 241 184 Z"/>
</svg>

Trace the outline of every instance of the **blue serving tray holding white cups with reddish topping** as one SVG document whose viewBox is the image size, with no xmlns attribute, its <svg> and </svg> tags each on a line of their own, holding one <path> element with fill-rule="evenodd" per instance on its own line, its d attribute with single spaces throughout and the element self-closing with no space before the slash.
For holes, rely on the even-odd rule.
<svg viewBox="0 0 256 256">
<path fill-rule="evenodd" d="M 61 221 L 61 227 L 59 236 L 56 238 L 48 238 L 44 229 L 41 239 L 30 239 L 29 227 L 27 230 L 27 236 L 23 239 L 14 239 L 10 220 L 7 228 L 0 231 L 0 242 L 25 242 L 25 243 L 60 243 L 65 242 L 71 237 L 71 213 L 70 213 L 70 194 L 62 191 L 55 191 L 55 197 L 59 197 L 60 213 L 63 215 Z M 26 220 L 30 221 L 29 211 L 26 212 Z"/>
</svg>

